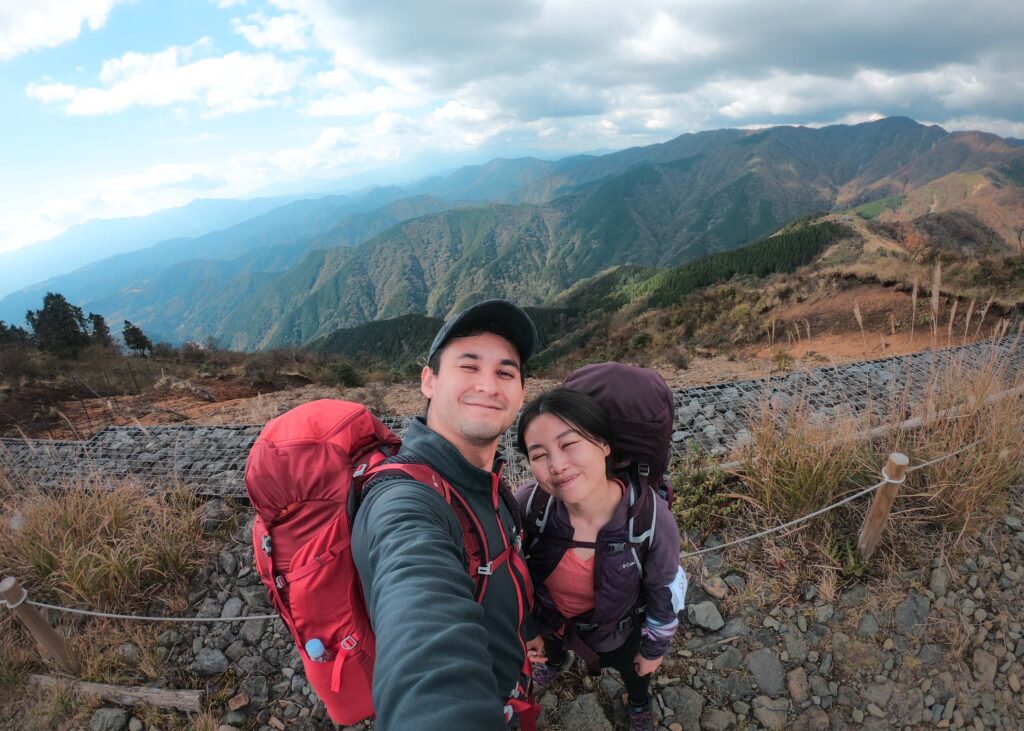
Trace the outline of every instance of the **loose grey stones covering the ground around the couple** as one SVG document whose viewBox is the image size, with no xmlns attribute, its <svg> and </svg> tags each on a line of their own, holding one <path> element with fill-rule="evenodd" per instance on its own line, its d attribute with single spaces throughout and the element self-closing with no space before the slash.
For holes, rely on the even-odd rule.
<svg viewBox="0 0 1024 731">
<path fill-rule="evenodd" d="M 895 595 L 856 584 L 826 601 L 808 586 L 761 607 L 736 601 L 750 595 L 746 579 L 712 557 L 708 575 L 691 577 L 680 635 L 655 679 L 659 728 L 1024 728 L 1022 505 L 1018 490 L 1010 513 L 974 540 L 976 552 L 900 576 Z M 210 527 L 231 518 L 221 501 L 208 514 Z M 215 708 L 220 731 L 330 728 L 283 624 L 245 619 L 269 606 L 252 568 L 249 525 L 240 522 L 189 596 L 197 615 L 238 621 L 176 626 L 160 636 L 159 652 L 226 698 Z M 542 702 L 547 728 L 626 727 L 613 673 L 567 673 Z M 90 728 L 143 726 L 128 711 L 103 707 Z"/>
</svg>

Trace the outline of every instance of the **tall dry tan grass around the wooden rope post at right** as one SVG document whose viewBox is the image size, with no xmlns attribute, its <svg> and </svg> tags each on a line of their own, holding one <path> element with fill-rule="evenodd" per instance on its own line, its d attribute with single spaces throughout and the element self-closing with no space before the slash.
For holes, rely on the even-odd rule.
<svg viewBox="0 0 1024 731">
<path fill-rule="evenodd" d="M 731 512 L 716 509 L 725 517 L 722 540 L 777 526 L 870 486 L 891 451 L 906 454 L 911 466 L 963 451 L 908 474 L 869 564 L 856 549 L 870 503 L 865 497 L 729 549 L 729 565 L 741 569 L 748 585 L 728 601 L 770 606 L 793 601 L 810 585 L 834 601 L 845 586 L 870 575 L 879 606 L 895 606 L 905 597 L 895 577 L 926 567 L 937 552 L 963 554 L 969 528 L 1005 511 L 1010 488 L 1024 477 L 1022 378 L 1009 378 L 994 357 L 953 362 L 932 374 L 912 408 L 906 392 L 892 394 L 881 424 L 878 416 L 870 424 L 866 417 L 825 421 L 807 399 L 763 401 L 748 425 L 749 440 L 733 456 L 734 480 L 716 491 L 733 500 Z M 874 431 L 866 438 L 869 427 Z M 689 563 L 700 575 L 699 561 Z"/>
</svg>

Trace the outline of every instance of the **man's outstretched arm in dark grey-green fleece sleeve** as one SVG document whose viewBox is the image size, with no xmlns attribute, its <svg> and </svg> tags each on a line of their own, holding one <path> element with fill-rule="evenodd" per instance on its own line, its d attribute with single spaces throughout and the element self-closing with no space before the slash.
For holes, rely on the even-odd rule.
<svg viewBox="0 0 1024 731">
<path fill-rule="evenodd" d="M 386 482 L 359 508 L 352 538 L 377 636 L 378 727 L 505 729 L 483 609 L 451 507 L 426 485 Z"/>
</svg>

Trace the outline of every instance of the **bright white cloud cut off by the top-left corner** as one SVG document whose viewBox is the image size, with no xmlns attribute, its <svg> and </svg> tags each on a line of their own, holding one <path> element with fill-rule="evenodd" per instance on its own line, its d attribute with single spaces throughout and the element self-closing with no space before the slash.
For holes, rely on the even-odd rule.
<svg viewBox="0 0 1024 731">
<path fill-rule="evenodd" d="M 85 24 L 96 31 L 119 0 L 9 0 L 0 4 L 0 60 L 73 41 Z"/>
</svg>

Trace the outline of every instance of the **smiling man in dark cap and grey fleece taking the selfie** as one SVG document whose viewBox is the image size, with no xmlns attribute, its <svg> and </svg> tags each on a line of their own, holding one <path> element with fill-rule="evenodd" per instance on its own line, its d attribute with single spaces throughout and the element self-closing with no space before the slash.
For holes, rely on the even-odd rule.
<svg viewBox="0 0 1024 731">
<path fill-rule="evenodd" d="M 481 302 L 445 322 L 421 374 L 426 417 L 410 424 L 396 458 L 430 465 L 465 498 L 490 557 L 510 545 L 519 551 L 495 458 L 522 406 L 523 365 L 536 349 L 537 329 L 509 302 Z M 506 728 L 525 655 L 529 579 L 519 562 L 497 565 L 478 603 L 452 507 L 394 473 L 371 478 L 352 555 L 377 637 L 378 728 Z"/>
</svg>

